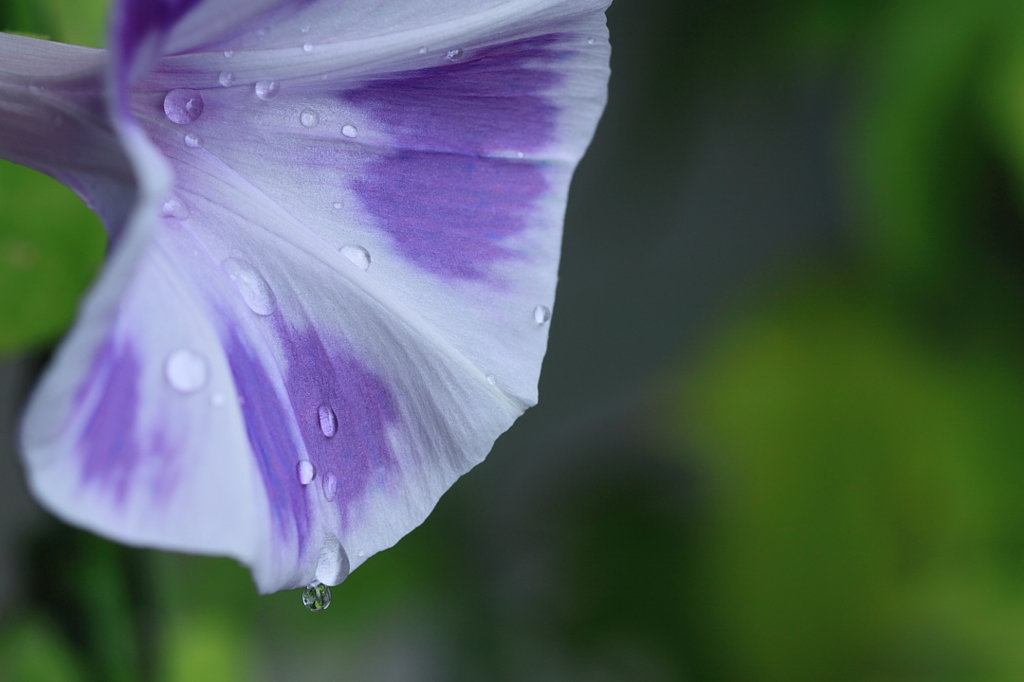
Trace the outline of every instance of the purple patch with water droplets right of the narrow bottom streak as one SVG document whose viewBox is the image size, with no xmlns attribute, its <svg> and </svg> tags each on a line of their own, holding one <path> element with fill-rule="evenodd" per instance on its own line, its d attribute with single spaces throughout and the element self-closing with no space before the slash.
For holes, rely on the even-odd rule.
<svg viewBox="0 0 1024 682">
<path fill-rule="evenodd" d="M 397 419 L 394 400 L 379 377 L 345 351 L 329 352 L 315 333 L 282 329 L 281 335 L 288 353 L 288 393 L 316 472 L 312 484 L 321 487 L 333 475 L 338 483 L 334 504 L 347 519 L 348 506 L 383 483 L 397 465 L 387 437 Z M 333 431 L 322 427 L 321 406 L 337 418 Z M 292 470 L 294 476 L 294 465 Z"/>
</svg>

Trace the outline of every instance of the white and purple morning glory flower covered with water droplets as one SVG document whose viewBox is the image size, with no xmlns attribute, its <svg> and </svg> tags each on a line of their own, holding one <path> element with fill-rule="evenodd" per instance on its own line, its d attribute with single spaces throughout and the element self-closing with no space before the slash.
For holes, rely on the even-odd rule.
<svg viewBox="0 0 1024 682">
<path fill-rule="evenodd" d="M 537 401 L 603 0 L 121 0 L 104 52 L 0 35 L 0 156 L 101 275 L 22 431 L 132 545 L 336 585 Z"/>
</svg>

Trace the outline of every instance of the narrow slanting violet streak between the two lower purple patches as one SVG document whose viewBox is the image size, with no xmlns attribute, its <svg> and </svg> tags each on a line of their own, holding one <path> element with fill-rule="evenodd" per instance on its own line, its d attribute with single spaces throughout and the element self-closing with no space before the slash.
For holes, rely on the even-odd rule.
<svg viewBox="0 0 1024 682">
<path fill-rule="evenodd" d="M 288 425 L 292 411 L 283 404 L 259 359 L 232 333 L 224 349 L 242 398 L 249 444 L 266 487 L 273 527 L 283 539 L 296 538 L 301 552 L 309 535 L 309 508 L 296 479 L 299 457 Z"/>
</svg>

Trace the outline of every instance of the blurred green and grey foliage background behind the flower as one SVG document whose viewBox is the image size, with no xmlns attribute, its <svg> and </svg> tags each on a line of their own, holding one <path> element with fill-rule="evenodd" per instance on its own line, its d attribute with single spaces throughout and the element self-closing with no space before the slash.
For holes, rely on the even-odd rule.
<svg viewBox="0 0 1024 682">
<path fill-rule="evenodd" d="M 0 164 L 0 680 L 1024 679 L 1024 4 L 609 26 L 541 404 L 324 613 L 29 501 L 18 406 L 103 241 Z"/>
</svg>

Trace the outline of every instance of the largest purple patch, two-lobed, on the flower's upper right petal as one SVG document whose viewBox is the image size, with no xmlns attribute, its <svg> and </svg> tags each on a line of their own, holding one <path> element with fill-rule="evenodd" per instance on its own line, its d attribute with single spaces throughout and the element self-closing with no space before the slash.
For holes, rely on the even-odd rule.
<svg viewBox="0 0 1024 682">
<path fill-rule="evenodd" d="M 531 163 L 486 155 L 550 142 L 557 108 L 544 93 L 562 58 L 549 35 L 470 50 L 461 61 L 343 93 L 404 151 L 371 162 L 352 186 L 416 265 L 478 280 L 515 254 L 501 240 L 522 230 L 547 189 Z"/>
</svg>

